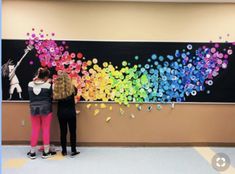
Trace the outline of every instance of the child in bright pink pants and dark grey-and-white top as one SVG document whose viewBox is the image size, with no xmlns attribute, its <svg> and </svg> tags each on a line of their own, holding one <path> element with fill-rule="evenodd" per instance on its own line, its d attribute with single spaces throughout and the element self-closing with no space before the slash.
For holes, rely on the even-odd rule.
<svg viewBox="0 0 235 174">
<path fill-rule="evenodd" d="M 42 158 L 55 155 L 50 151 L 50 125 L 52 120 L 52 88 L 49 80 L 50 71 L 47 68 L 39 68 L 37 76 L 28 84 L 30 112 L 31 112 L 31 149 L 27 156 L 36 158 L 36 146 L 40 129 L 42 129 L 43 154 Z"/>
</svg>

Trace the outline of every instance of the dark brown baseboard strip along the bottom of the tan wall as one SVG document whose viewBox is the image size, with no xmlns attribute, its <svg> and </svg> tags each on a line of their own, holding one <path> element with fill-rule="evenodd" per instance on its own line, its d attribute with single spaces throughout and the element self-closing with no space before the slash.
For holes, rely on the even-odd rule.
<svg viewBox="0 0 235 174">
<path fill-rule="evenodd" d="M 42 144 L 39 142 L 38 144 Z M 60 146 L 58 141 L 52 141 L 51 144 Z M 2 145 L 29 145 L 29 141 L 2 141 Z M 108 146 L 108 147 L 235 147 L 235 143 L 223 142 L 181 142 L 181 143 L 146 143 L 146 142 L 79 142 L 77 146 Z"/>
</svg>

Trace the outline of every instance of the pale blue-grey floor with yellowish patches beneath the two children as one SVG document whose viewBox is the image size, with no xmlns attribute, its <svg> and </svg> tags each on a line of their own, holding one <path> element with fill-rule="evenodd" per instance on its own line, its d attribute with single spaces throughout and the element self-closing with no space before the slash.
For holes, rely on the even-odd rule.
<svg viewBox="0 0 235 174">
<path fill-rule="evenodd" d="M 194 147 L 79 147 L 75 158 L 60 152 L 50 159 L 41 153 L 31 160 L 28 146 L 2 146 L 3 174 L 215 174 L 212 157 L 229 156 L 231 165 L 221 173 L 235 174 L 235 148 Z"/>
</svg>

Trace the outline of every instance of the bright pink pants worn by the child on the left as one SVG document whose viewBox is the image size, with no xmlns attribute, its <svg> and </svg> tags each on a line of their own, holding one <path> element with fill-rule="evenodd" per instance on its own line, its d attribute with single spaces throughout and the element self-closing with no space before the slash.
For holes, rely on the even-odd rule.
<svg viewBox="0 0 235 174">
<path fill-rule="evenodd" d="M 42 128 L 42 139 L 44 145 L 50 144 L 50 128 L 51 128 L 52 113 L 48 115 L 31 115 L 32 133 L 31 133 L 31 147 L 38 144 L 40 128 Z"/>
</svg>

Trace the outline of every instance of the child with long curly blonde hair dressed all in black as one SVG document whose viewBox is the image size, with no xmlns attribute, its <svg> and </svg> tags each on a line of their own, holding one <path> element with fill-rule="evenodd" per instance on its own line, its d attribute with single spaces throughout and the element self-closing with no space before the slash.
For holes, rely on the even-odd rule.
<svg viewBox="0 0 235 174">
<path fill-rule="evenodd" d="M 79 154 L 76 150 L 76 109 L 74 96 L 76 89 L 69 75 L 59 71 L 53 84 L 53 98 L 58 100 L 57 116 L 60 124 L 62 155 L 67 155 L 67 130 L 70 132 L 71 157 Z"/>
</svg>

